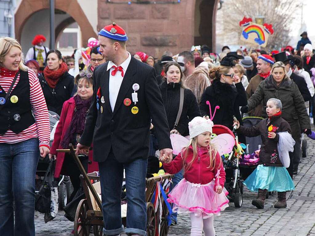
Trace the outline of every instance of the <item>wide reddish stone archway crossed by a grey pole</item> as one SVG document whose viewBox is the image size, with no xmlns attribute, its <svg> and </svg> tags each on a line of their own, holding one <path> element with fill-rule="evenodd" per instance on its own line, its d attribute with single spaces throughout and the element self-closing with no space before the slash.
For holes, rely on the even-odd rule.
<svg viewBox="0 0 315 236">
<path fill-rule="evenodd" d="M 15 13 L 15 37 L 21 43 L 23 52 L 30 48 L 36 34 L 43 34 L 49 45 L 49 1 L 22 0 Z M 82 45 L 86 45 L 90 37 L 97 37 L 77 0 L 56 1 L 55 3 L 55 35 L 58 37 L 63 29 L 77 22 L 82 31 Z M 70 19 L 70 20 L 69 20 Z M 48 22 L 48 26 L 46 25 Z M 31 29 L 29 31 L 25 29 Z"/>
</svg>

